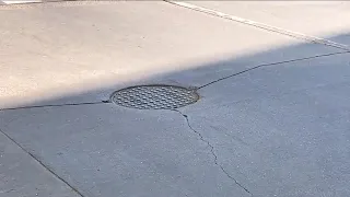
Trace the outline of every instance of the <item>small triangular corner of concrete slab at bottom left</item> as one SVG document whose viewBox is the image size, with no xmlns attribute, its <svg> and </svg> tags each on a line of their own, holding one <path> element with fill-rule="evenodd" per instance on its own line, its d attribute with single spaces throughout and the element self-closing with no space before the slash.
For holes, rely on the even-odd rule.
<svg viewBox="0 0 350 197">
<path fill-rule="evenodd" d="M 1 197 L 79 197 L 37 161 L 0 132 Z"/>
</svg>

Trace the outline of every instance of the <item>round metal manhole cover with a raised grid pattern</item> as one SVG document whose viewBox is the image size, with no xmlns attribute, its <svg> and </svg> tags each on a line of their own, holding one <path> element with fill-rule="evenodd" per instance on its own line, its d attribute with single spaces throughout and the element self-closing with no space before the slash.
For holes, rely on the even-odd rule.
<svg viewBox="0 0 350 197">
<path fill-rule="evenodd" d="M 173 85 L 141 85 L 119 90 L 112 101 L 125 107 L 139 109 L 172 109 L 199 100 L 195 90 Z"/>
</svg>

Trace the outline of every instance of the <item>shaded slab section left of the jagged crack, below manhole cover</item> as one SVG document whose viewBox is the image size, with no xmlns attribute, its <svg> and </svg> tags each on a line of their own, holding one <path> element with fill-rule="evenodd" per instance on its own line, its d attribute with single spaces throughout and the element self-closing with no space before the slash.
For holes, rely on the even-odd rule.
<svg viewBox="0 0 350 197">
<path fill-rule="evenodd" d="M 1 112 L 0 125 L 86 197 L 249 196 L 177 112 L 45 107 Z"/>
</svg>

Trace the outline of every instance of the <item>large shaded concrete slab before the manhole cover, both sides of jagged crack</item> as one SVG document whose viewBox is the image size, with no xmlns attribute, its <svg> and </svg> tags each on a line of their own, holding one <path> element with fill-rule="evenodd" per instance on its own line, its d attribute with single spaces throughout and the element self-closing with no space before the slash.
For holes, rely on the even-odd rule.
<svg viewBox="0 0 350 197">
<path fill-rule="evenodd" d="M 88 197 L 348 196 L 348 59 L 202 88 L 180 109 L 189 125 L 177 112 L 113 104 L 2 111 L 0 125 Z"/>
</svg>

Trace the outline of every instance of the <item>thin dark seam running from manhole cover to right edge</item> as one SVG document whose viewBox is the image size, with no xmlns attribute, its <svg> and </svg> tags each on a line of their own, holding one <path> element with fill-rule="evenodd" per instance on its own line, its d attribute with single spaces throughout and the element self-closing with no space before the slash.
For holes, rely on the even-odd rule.
<svg viewBox="0 0 350 197">
<path fill-rule="evenodd" d="M 284 60 L 284 61 L 278 61 L 278 62 L 272 62 L 272 63 L 262 63 L 262 65 L 258 65 L 258 66 L 252 67 L 252 68 L 246 69 L 246 70 L 243 70 L 243 71 L 240 71 L 240 72 L 236 72 L 236 73 L 233 73 L 233 74 L 230 74 L 230 76 L 226 76 L 226 77 L 217 79 L 217 80 L 214 80 L 214 81 L 211 81 L 211 82 L 209 82 L 209 83 L 206 83 L 206 84 L 197 88 L 197 90 L 200 90 L 200 89 L 202 89 L 202 88 L 212 85 L 212 84 L 214 84 L 214 83 L 217 83 L 217 82 L 219 82 L 219 81 L 223 81 L 223 80 L 225 80 L 225 79 L 229 79 L 229 78 L 232 78 L 232 77 L 235 77 L 235 76 L 240 76 L 240 74 L 242 74 L 242 73 L 245 73 L 245 72 L 248 72 L 248 71 L 252 71 L 252 70 L 261 68 L 261 67 L 270 67 L 270 66 L 275 66 L 275 65 L 282 65 L 282 63 L 289 63 L 289 62 L 295 62 L 295 61 L 303 61 L 303 60 L 310 60 L 310 59 L 315 59 L 315 58 L 320 58 L 320 57 L 328 57 L 328 56 L 335 56 L 335 55 L 342 55 L 342 54 L 350 54 L 350 51 L 331 53 L 331 54 L 324 54 L 324 55 L 311 56 L 311 57 L 299 58 L 299 59 L 290 59 L 290 60 Z"/>
</svg>

